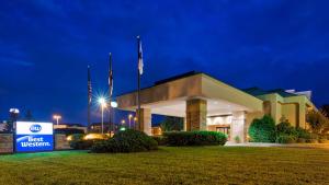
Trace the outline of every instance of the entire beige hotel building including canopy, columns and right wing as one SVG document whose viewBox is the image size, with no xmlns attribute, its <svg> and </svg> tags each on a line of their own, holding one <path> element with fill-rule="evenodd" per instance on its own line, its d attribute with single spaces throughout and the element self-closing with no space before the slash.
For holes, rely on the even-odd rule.
<svg viewBox="0 0 329 185">
<path fill-rule="evenodd" d="M 117 97 L 118 108 L 136 111 L 137 92 Z M 286 118 L 296 127 L 306 127 L 306 113 L 315 108 L 307 94 L 257 88 L 239 90 L 211 76 L 189 72 L 158 81 L 140 91 L 138 129 L 151 135 L 151 115 L 184 118 L 184 130 L 213 130 L 230 140 L 247 141 L 254 118 L 271 115 L 279 124 Z"/>
</svg>

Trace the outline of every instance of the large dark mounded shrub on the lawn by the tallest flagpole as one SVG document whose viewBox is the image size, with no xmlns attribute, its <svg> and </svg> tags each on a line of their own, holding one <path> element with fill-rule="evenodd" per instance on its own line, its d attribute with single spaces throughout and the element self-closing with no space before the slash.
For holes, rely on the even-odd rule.
<svg viewBox="0 0 329 185">
<path fill-rule="evenodd" d="M 107 140 L 95 142 L 91 151 L 97 153 L 103 152 L 141 152 L 157 150 L 158 142 L 143 131 L 123 130 Z"/>
</svg>

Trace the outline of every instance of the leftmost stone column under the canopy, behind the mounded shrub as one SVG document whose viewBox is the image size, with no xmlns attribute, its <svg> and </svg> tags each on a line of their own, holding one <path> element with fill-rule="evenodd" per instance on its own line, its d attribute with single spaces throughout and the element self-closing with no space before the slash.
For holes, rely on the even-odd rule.
<svg viewBox="0 0 329 185">
<path fill-rule="evenodd" d="M 136 111 L 136 115 L 138 115 L 138 109 Z M 151 111 L 149 108 L 140 108 L 140 120 L 137 120 L 136 129 L 151 136 Z"/>
</svg>

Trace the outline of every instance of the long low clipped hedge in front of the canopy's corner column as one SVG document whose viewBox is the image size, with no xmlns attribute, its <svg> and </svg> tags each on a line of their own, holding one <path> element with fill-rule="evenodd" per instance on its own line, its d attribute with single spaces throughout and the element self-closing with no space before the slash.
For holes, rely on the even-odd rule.
<svg viewBox="0 0 329 185">
<path fill-rule="evenodd" d="M 168 146 L 224 146 L 227 136 L 216 131 L 163 132 Z"/>
</svg>

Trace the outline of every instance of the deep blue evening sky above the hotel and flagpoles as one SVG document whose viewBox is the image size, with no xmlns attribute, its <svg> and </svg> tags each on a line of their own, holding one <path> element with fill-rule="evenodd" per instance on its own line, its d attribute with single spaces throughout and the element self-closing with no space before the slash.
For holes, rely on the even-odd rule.
<svg viewBox="0 0 329 185">
<path fill-rule="evenodd" d="M 317 105 L 329 103 L 328 7 L 325 0 L 1 1 L 0 118 L 19 107 L 41 120 L 57 112 L 65 122 L 86 122 L 87 65 L 94 92 L 106 91 L 112 51 L 114 93 L 136 89 L 136 35 L 143 86 L 197 70 L 237 88 L 313 90 Z"/>
</svg>

